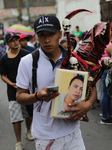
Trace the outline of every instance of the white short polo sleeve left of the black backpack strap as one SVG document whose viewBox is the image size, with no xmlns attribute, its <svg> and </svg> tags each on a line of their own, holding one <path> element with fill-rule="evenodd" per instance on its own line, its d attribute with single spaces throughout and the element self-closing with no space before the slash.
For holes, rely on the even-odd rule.
<svg viewBox="0 0 112 150">
<path fill-rule="evenodd" d="M 27 58 L 27 59 L 26 59 Z M 30 86 L 30 76 L 32 75 L 31 57 L 23 57 L 19 63 L 16 85 L 22 89 L 28 89 Z"/>
</svg>

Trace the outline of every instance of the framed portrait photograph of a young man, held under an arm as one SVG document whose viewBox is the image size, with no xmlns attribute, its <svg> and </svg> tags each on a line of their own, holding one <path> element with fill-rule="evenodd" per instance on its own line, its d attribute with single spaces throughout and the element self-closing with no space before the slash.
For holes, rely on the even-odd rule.
<svg viewBox="0 0 112 150">
<path fill-rule="evenodd" d="M 55 86 L 59 86 L 60 95 L 52 100 L 51 117 L 67 118 L 72 112 L 68 104 L 81 101 L 85 98 L 87 90 L 88 72 L 57 69 Z M 75 106 L 74 106 L 75 107 Z"/>
</svg>

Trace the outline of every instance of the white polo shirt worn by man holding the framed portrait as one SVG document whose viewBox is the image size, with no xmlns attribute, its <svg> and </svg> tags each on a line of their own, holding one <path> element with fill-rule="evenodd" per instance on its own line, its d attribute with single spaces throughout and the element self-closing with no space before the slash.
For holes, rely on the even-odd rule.
<svg viewBox="0 0 112 150">
<path fill-rule="evenodd" d="M 60 68 L 62 55 L 58 59 L 58 63 L 53 68 L 51 61 L 39 49 L 40 56 L 38 60 L 37 69 L 37 84 L 38 89 L 54 85 L 56 68 Z M 17 75 L 17 86 L 23 89 L 32 89 L 32 55 L 28 54 L 20 61 Z M 45 102 L 41 106 L 40 112 L 37 111 L 38 103 L 34 103 L 33 121 L 32 121 L 32 135 L 39 139 L 56 139 L 66 136 L 79 129 L 79 121 L 69 121 L 64 119 L 50 118 L 51 101 Z"/>
</svg>

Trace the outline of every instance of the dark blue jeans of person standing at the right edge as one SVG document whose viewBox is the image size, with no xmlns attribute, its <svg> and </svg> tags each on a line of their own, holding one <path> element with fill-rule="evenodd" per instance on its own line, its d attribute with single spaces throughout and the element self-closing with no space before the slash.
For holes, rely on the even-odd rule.
<svg viewBox="0 0 112 150">
<path fill-rule="evenodd" d="M 109 116 L 112 116 L 112 107 L 110 95 L 107 93 L 105 79 L 108 69 L 104 70 L 101 80 L 102 80 L 102 97 L 101 97 L 101 108 L 102 108 L 102 119 L 107 119 Z"/>
</svg>

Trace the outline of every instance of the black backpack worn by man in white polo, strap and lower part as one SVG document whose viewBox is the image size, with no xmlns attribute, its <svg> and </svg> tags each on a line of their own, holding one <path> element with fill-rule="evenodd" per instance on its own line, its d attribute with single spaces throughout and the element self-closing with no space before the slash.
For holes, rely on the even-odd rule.
<svg viewBox="0 0 112 150">
<path fill-rule="evenodd" d="M 38 59 L 39 59 L 39 50 L 36 49 L 32 53 L 33 63 L 32 63 L 32 90 L 35 93 L 35 88 L 38 87 L 37 85 L 37 68 L 38 68 Z M 30 117 L 33 116 L 33 104 L 26 105 L 27 112 Z"/>
</svg>

